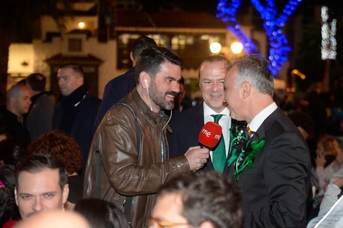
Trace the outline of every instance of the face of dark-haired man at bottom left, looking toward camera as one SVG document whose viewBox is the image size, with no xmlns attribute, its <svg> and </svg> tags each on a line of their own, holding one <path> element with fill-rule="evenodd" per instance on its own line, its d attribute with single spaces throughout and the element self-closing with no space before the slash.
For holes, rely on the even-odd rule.
<svg viewBox="0 0 343 228">
<path fill-rule="evenodd" d="M 38 172 L 22 171 L 15 188 L 15 201 L 22 219 L 41 211 L 62 210 L 67 202 L 69 187 L 61 189 L 58 169 L 45 168 Z"/>
</svg>

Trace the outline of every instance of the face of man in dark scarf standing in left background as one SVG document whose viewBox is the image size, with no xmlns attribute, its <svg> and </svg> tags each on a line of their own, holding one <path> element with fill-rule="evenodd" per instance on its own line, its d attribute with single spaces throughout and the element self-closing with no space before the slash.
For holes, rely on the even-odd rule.
<svg viewBox="0 0 343 228">
<path fill-rule="evenodd" d="M 72 68 L 61 68 L 57 72 L 58 86 L 63 96 L 68 96 L 84 84 L 84 77 Z"/>
</svg>

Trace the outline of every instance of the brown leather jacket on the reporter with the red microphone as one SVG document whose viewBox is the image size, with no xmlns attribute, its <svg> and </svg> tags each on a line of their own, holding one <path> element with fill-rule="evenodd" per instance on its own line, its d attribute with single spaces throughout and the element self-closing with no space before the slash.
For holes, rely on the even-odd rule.
<svg viewBox="0 0 343 228">
<path fill-rule="evenodd" d="M 95 180 L 96 175 L 100 175 L 100 198 L 115 203 L 123 210 L 125 196 L 134 196 L 131 224 L 134 228 L 146 228 L 159 187 L 173 176 L 189 171 L 189 165 L 184 156 L 161 160 L 162 134 L 168 145 L 166 128 L 162 130 L 168 116 L 150 111 L 136 89 L 119 103 L 129 104 L 136 113 L 142 132 L 140 157 L 132 112 L 124 105 L 113 106 L 92 140 L 85 172 L 84 197 L 96 197 Z M 102 162 L 98 169 L 95 151 L 101 154 Z"/>
</svg>

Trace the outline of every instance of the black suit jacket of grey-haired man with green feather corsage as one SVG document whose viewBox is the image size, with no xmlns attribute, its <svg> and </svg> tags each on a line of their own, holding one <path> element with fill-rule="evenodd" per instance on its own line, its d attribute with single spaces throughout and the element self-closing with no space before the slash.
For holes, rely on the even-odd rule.
<svg viewBox="0 0 343 228">
<path fill-rule="evenodd" d="M 305 228 L 310 190 L 310 153 L 291 120 L 277 108 L 251 141 L 265 137 L 252 169 L 239 176 L 243 228 Z M 234 162 L 233 162 L 234 163 Z M 229 175 L 234 166 L 229 167 Z"/>
</svg>

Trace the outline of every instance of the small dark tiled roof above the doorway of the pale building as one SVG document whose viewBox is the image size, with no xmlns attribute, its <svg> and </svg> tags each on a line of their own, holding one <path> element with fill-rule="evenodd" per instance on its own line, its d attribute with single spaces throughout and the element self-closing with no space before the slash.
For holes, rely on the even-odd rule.
<svg viewBox="0 0 343 228">
<path fill-rule="evenodd" d="M 103 61 L 92 56 L 64 56 L 62 54 L 57 54 L 49 59 L 46 59 L 45 62 L 49 64 L 65 64 L 65 63 L 76 63 L 80 65 L 99 65 Z"/>
</svg>

